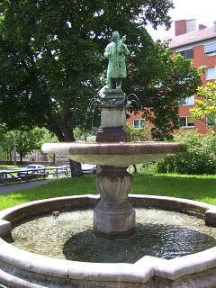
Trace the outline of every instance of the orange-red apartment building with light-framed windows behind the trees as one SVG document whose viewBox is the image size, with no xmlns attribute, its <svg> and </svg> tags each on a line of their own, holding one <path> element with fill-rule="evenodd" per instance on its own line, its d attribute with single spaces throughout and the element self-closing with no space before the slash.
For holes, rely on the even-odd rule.
<svg viewBox="0 0 216 288">
<path fill-rule="evenodd" d="M 202 85 L 207 82 L 213 82 L 216 76 L 216 21 L 211 27 L 202 24 L 196 30 L 196 20 L 175 21 L 175 37 L 172 38 L 170 49 L 175 49 L 184 58 L 193 59 L 195 67 L 206 66 L 206 73 L 202 75 Z M 190 115 L 190 109 L 195 105 L 196 94 L 186 98 L 184 102 L 179 103 L 180 127 L 183 129 L 196 129 L 200 133 L 207 130 L 203 121 L 194 120 Z M 130 114 L 128 122 L 134 126 L 145 124 L 141 113 Z"/>
</svg>

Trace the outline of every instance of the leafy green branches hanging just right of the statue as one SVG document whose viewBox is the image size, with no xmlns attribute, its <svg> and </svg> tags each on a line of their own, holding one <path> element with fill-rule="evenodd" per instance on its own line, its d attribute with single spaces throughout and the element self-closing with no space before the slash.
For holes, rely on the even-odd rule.
<svg viewBox="0 0 216 288">
<path fill-rule="evenodd" d="M 154 139 L 173 139 L 179 126 L 179 100 L 202 85 L 203 68 L 197 69 L 191 59 L 180 54 L 173 57 L 168 42 L 152 45 L 146 37 L 145 43 L 141 57 L 131 59 L 128 89 L 138 96 L 143 117 L 154 124 Z"/>
</svg>

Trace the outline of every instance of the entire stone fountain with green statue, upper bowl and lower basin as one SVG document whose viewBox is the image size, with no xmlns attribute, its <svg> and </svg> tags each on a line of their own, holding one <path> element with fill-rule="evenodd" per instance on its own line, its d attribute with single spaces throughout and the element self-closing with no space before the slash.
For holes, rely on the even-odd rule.
<svg viewBox="0 0 216 288">
<path fill-rule="evenodd" d="M 170 260 L 145 256 L 136 263 L 90 263 L 40 256 L 14 247 L 4 240 L 21 220 L 50 212 L 94 206 L 94 237 L 122 241 L 136 233 L 134 206 L 157 207 L 184 212 L 216 227 L 216 208 L 202 202 L 170 197 L 130 195 L 133 178 L 131 164 L 147 163 L 167 153 L 184 152 L 176 142 L 130 142 L 125 129 L 125 94 L 121 80 L 126 76 L 124 54 L 129 50 L 125 38 L 113 32 L 105 49 L 109 58 L 107 87 L 100 99 L 101 128 L 95 143 L 46 143 L 45 153 L 97 164 L 101 172 L 95 182 L 100 196 L 59 197 L 29 202 L 0 211 L 0 287 L 215 287 L 216 248 Z M 117 57 L 116 57 L 117 55 Z M 53 214 L 53 212 L 55 212 Z M 174 223 L 175 224 L 175 223 Z"/>
</svg>

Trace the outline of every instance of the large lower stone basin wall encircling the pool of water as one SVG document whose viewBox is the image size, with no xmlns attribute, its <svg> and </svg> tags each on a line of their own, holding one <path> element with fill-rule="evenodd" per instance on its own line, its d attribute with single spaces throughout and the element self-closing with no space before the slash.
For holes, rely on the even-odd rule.
<svg viewBox="0 0 216 288">
<path fill-rule="evenodd" d="M 10 234 L 14 223 L 44 212 L 95 206 L 99 196 L 59 197 L 27 202 L 0 211 L 0 237 Z M 216 207 L 203 202 L 131 195 L 133 205 L 180 211 L 216 226 Z M 121 242 L 120 242 L 121 243 Z M 13 247 L 0 238 L 0 286 L 10 288 L 212 288 L 216 283 L 216 247 L 175 259 L 142 257 L 135 264 L 88 263 L 36 255 Z"/>
</svg>

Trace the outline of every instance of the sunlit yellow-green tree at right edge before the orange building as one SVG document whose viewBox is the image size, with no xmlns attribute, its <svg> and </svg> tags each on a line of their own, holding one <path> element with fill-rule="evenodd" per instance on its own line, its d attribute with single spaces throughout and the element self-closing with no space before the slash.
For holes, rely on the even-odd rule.
<svg viewBox="0 0 216 288">
<path fill-rule="evenodd" d="M 216 131 L 216 81 L 208 82 L 205 87 L 200 86 L 198 96 L 202 99 L 195 100 L 196 106 L 190 109 L 192 116 Z"/>
</svg>

